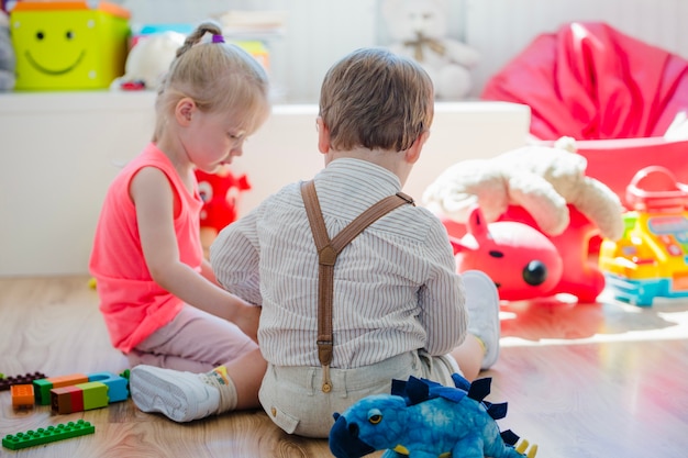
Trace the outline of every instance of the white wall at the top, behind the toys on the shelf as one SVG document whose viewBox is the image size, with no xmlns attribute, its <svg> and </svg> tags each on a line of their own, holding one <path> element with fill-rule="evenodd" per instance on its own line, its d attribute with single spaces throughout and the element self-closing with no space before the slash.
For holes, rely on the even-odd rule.
<svg viewBox="0 0 688 458">
<path fill-rule="evenodd" d="M 360 46 L 389 44 L 380 0 L 120 0 L 132 23 L 197 23 L 229 10 L 282 11 L 285 27 L 268 40 L 270 72 L 282 101 L 314 103 L 330 65 Z M 448 33 L 481 54 L 473 70 L 485 82 L 537 34 L 569 21 L 606 21 L 639 40 L 688 58 L 686 0 L 448 0 Z"/>
</svg>

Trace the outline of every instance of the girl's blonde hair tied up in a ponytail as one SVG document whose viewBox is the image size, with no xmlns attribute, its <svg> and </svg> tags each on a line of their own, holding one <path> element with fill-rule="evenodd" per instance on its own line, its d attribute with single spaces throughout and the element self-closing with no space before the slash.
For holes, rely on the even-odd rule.
<svg viewBox="0 0 688 458">
<path fill-rule="evenodd" d="M 267 74 L 244 49 L 224 43 L 219 24 L 203 22 L 177 49 L 159 86 L 153 141 L 159 138 L 167 116 L 185 97 L 202 111 L 236 113 L 236 119 L 245 124 L 240 127 L 254 132 L 269 107 Z"/>
</svg>

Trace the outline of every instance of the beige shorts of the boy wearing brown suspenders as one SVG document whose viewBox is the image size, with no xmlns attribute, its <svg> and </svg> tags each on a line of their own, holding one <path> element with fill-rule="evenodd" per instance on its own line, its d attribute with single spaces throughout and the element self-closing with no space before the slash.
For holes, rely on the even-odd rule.
<svg viewBox="0 0 688 458">
<path fill-rule="evenodd" d="M 285 432 L 325 438 L 333 414 L 370 394 L 389 394 L 391 380 L 410 376 L 454 387 L 453 373 L 462 373 L 451 356 L 430 357 L 413 351 L 356 369 L 330 369 L 332 391 L 324 393 L 321 367 L 280 367 L 268 364 L 258 396 L 268 416 Z"/>
</svg>

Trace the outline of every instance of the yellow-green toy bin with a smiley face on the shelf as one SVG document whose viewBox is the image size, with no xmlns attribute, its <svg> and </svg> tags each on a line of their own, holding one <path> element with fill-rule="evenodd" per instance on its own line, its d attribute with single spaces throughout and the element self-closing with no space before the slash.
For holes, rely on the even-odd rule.
<svg viewBox="0 0 688 458">
<path fill-rule="evenodd" d="M 108 88 L 124 74 L 127 10 L 104 1 L 18 2 L 15 90 Z"/>
</svg>

